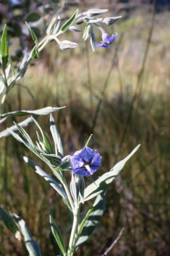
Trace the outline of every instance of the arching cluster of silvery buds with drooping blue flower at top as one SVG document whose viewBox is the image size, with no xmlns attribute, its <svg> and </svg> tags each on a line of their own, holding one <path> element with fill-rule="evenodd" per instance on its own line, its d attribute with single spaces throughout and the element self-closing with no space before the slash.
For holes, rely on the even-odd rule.
<svg viewBox="0 0 170 256">
<path fill-rule="evenodd" d="M 105 17 L 105 18 L 96 17 L 98 15 L 101 15 L 102 13 L 106 13 L 106 11 L 108 11 L 108 9 L 90 9 L 84 13 L 78 14 L 78 9 L 77 9 L 76 12 L 72 15 L 72 17 L 70 17 L 70 19 L 68 19 L 68 21 L 66 21 L 66 23 L 64 23 L 64 25 L 62 25 L 61 27 L 60 27 L 60 23 L 61 23 L 60 17 L 59 16 L 58 18 L 54 17 L 50 22 L 50 24 L 48 25 L 48 28 L 46 29 L 46 33 L 51 37 L 51 39 L 54 39 L 58 43 L 58 45 L 60 46 L 60 49 L 62 50 L 72 49 L 77 47 L 78 44 L 68 40 L 60 41 L 58 39 L 58 36 L 64 33 L 68 29 L 70 31 L 80 32 L 81 30 L 78 27 L 76 27 L 76 25 L 85 23 L 86 27 L 84 29 L 83 39 L 84 41 L 86 41 L 86 39 L 90 37 L 90 44 L 92 46 L 92 50 L 94 51 L 95 47 L 110 48 L 110 44 L 118 37 L 118 33 L 110 37 L 104 31 L 104 29 L 100 26 L 100 24 L 110 26 L 114 22 L 118 21 L 118 19 L 120 19 L 121 16 Z M 102 42 L 99 44 L 96 43 L 94 25 L 98 27 L 100 31 L 102 31 Z"/>
</svg>

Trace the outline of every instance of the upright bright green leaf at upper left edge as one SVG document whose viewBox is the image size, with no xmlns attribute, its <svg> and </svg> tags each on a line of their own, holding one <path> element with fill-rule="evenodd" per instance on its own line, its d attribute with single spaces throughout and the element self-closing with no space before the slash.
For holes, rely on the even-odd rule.
<svg viewBox="0 0 170 256">
<path fill-rule="evenodd" d="M 5 24 L 3 34 L 1 36 L 1 65 L 3 73 L 5 73 L 8 61 L 8 38 L 7 38 L 7 25 Z"/>
</svg>

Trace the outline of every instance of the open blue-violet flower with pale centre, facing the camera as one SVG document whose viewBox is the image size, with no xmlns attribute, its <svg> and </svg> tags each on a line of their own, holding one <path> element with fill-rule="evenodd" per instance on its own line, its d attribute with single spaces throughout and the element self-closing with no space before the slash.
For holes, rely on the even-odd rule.
<svg viewBox="0 0 170 256">
<path fill-rule="evenodd" d="M 100 167 L 101 157 L 90 147 L 84 147 L 82 151 L 70 158 L 72 172 L 81 176 L 90 176 Z"/>
</svg>

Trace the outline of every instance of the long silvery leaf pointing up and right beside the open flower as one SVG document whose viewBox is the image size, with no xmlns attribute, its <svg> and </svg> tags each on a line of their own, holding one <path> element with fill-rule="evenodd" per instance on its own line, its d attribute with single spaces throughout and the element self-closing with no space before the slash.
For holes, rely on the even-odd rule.
<svg viewBox="0 0 170 256">
<path fill-rule="evenodd" d="M 104 173 L 100 178 L 98 178 L 95 183 L 90 184 L 88 187 L 86 187 L 84 191 L 84 201 L 88 201 L 92 199 L 93 197 L 96 197 L 96 195 L 103 193 L 108 185 L 112 183 L 112 181 L 116 178 L 116 176 L 120 173 L 120 171 L 123 169 L 126 161 L 137 151 L 140 145 L 135 147 L 133 151 L 126 157 L 124 160 L 117 163 L 108 173 Z"/>
</svg>

